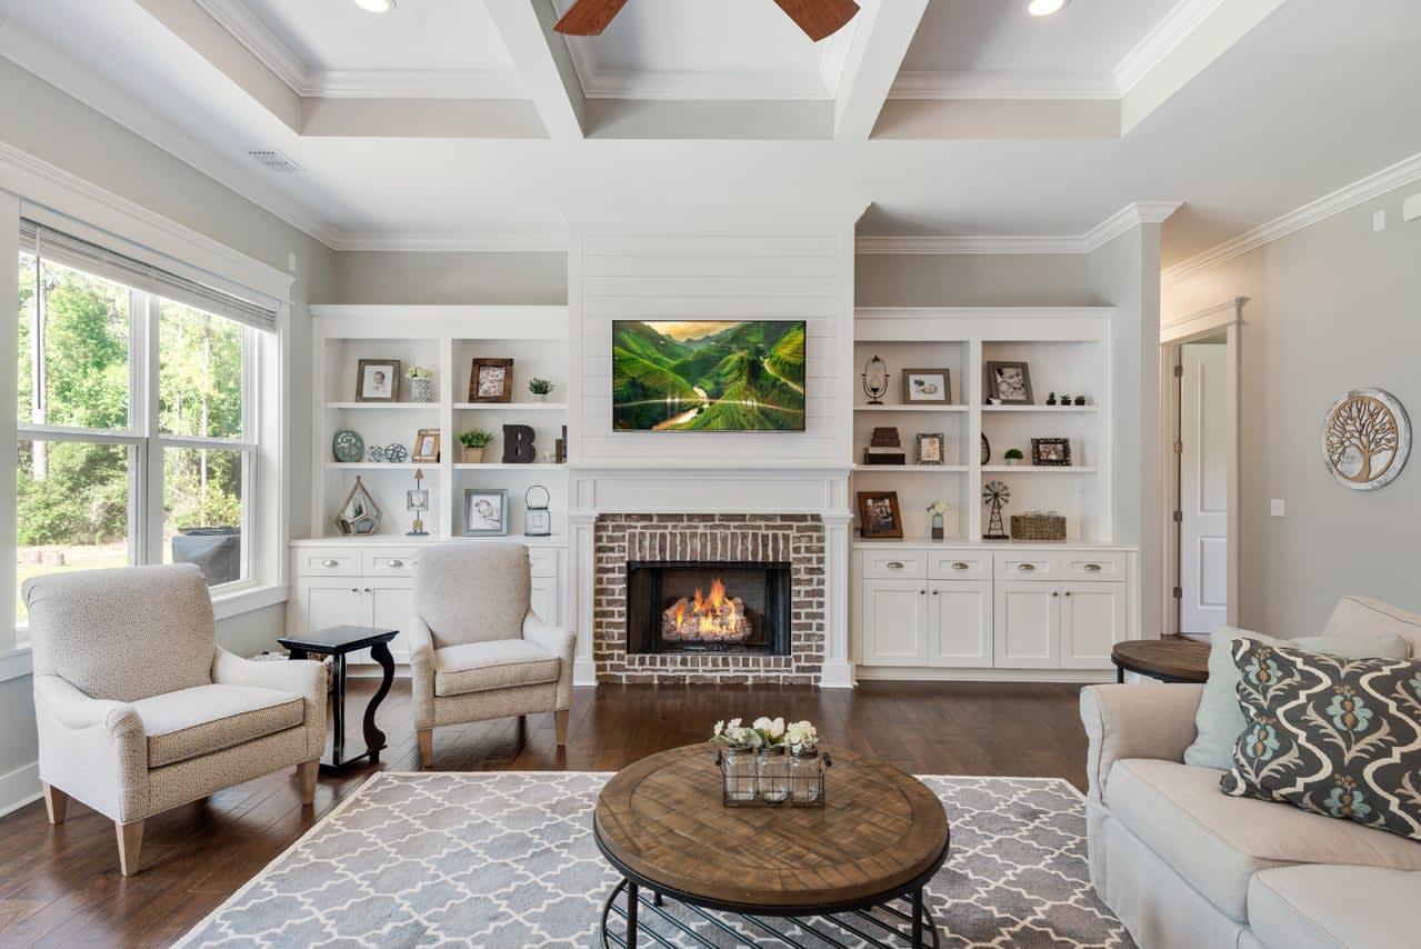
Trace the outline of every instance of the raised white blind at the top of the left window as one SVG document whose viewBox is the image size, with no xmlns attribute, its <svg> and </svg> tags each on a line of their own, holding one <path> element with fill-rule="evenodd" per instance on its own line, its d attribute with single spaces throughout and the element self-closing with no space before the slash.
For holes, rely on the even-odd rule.
<svg viewBox="0 0 1421 949">
<path fill-rule="evenodd" d="M 99 247 L 45 224 L 20 219 L 20 247 L 41 260 L 50 259 L 75 270 L 107 277 L 136 290 L 234 320 L 257 330 L 276 330 L 276 304 L 239 297 L 161 267 Z"/>
</svg>

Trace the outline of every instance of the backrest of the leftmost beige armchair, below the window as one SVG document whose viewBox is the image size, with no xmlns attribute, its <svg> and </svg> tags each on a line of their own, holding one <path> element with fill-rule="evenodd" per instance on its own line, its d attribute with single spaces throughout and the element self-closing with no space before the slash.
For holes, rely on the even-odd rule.
<svg viewBox="0 0 1421 949">
<path fill-rule="evenodd" d="M 37 676 L 115 702 L 212 682 L 216 622 L 193 564 L 34 577 L 23 595 Z"/>
</svg>

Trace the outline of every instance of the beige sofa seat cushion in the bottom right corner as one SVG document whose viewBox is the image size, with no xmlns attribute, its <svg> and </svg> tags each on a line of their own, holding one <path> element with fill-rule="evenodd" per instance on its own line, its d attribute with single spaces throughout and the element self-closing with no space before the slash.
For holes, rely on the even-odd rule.
<svg viewBox="0 0 1421 949">
<path fill-rule="evenodd" d="M 1407 949 L 1418 942 L 1421 874 L 1376 867 L 1280 867 L 1248 886 L 1248 922 L 1275 949 Z"/>
</svg>

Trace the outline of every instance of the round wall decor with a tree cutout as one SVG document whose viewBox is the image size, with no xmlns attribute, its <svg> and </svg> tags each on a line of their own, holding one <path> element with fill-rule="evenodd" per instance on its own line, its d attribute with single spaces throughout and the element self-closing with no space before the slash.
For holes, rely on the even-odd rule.
<svg viewBox="0 0 1421 949">
<path fill-rule="evenodd" d="M 1323 426 L 1323 457 L 1333 477 L 1370 492 L 1397 479 L 1411 455 L 1407 411 L 1381 389 L 1353 389 L 1337 399 Z"/>
</svg>

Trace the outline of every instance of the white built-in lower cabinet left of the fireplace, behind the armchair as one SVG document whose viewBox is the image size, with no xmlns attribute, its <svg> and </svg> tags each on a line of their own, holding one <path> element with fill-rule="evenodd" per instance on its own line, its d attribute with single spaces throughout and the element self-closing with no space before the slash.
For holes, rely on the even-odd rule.
<svg viewBox="0 0 1421 949">
<path fill-rule="evenodd" d="M 527 538 L 507 540 L 519 543 Z M 293 635 L 341 625 L 399 629 L 389 651 L 395 662 L 408 662 L 409 641 L 404 631 L 415 615 L 414 571 L 421 548 L 431 543 L 439 541 L 409 540 L 398 546 L 360 537 L 293 541 L 287 629 Z M 533 577 L 533 611 L 547 622 L 561 624 L 566 548 L 530 544 L 529 570 Z M 368 655 L 352 656 L 351 661 L 368 661 Z"/>
</svg>

